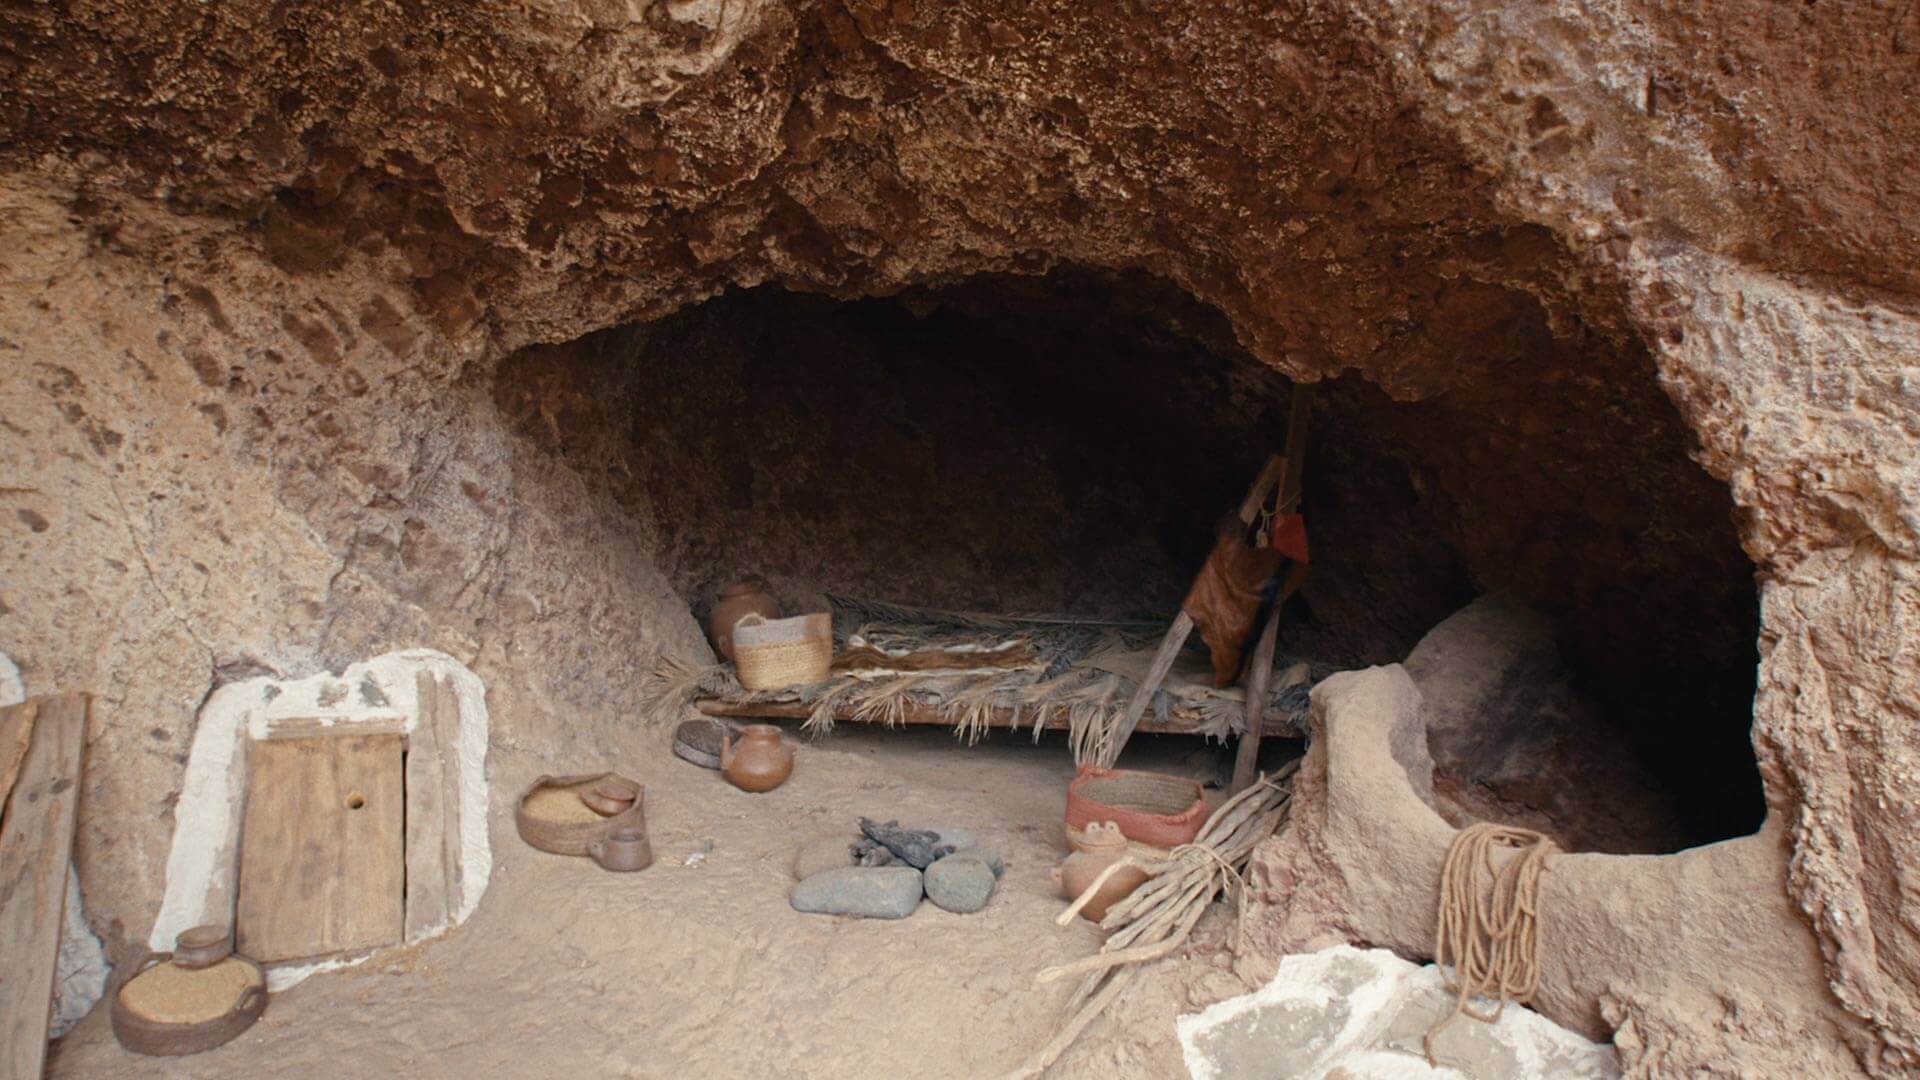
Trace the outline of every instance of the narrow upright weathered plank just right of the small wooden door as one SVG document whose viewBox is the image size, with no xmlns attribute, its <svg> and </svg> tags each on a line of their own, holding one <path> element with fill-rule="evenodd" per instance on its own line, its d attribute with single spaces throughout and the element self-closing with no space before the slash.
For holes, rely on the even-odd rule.
<svg viewBox="0 0 1920 1080">
<path fill-rule="evenodd" d="M 422 671 L 407 738 L 407 938 L 445 926 L 461 905 L 461 701 Z"/>
</svg>

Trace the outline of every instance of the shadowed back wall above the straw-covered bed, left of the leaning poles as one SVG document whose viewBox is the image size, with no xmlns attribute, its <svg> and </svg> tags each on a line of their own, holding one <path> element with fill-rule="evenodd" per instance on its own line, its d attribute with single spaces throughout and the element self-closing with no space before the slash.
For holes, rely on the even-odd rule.
<svg viewBox="0 0 1920 1080">
<path fill-rule="evenodd" d="M 659 525 L 655 563 L 701 615 L 751 573 L 787 609 L 1164 621 L 1288 402 L 1277 371 L 1169 332 L 1167 294 L 1085 273 L 864 302 L 762 286 L 520 350 L 493 398 Z"/>
</svg>

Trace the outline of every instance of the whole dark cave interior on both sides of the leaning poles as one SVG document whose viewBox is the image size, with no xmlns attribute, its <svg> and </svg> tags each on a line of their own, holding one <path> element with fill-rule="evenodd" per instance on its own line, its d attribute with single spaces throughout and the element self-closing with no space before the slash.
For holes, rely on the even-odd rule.
<svg viewBox="0 0 1920 1080">
<path fill-rule="evenodd" d="M 1476 596 L 1519 596 L 1601 744 L 1659 788 L 1670 821 L 1620 849 L 1751 832 L 1753 571 L 1651 361 L 1530 298 L 1450 332 L 1500 356 L 1419 402 L 1359 375 L 1313 386 L 1313 571 L 1281 651 L 1398 663 Z M 751 573 L 789 611 L 843 594 L 1158 621 L 1279 450 L 1290 390 L 1212 307 L 1092 271 L 737 290 L 522 350 L 493 384 L 701 617 Z"/>
</svg>

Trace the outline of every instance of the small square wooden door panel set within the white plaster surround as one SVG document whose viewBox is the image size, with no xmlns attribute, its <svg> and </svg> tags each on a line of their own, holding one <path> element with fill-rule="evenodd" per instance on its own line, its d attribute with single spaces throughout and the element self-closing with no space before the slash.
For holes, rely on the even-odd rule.
<svg viewBox="0 0 1920 1080">
<path fill-rule="evenodd" d="M 238 951 L 275 963 L 399 944 L 401 748 L 397 734 L 248 746 Z"/>
</svg>

